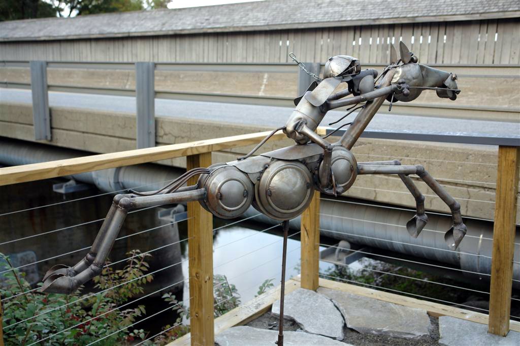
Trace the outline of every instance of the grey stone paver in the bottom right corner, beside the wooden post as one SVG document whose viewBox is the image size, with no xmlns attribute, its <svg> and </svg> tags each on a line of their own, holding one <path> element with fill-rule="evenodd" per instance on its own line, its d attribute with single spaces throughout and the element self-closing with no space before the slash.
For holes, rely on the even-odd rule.
<svg viewBox="0 0 520 346">
<path fill-rule="evenodd" d="M 456 317 L 439 317 L 439 343 L 446 346 L 518 346 L 520 333 L 510 330 L 506 337 L 488 334 L 488 326 L 476 322 L 457 319 Z"/>
</svg>

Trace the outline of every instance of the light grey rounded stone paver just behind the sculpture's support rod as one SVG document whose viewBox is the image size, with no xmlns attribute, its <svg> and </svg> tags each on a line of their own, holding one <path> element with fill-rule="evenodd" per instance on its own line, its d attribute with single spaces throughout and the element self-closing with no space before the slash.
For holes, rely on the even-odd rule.
<svg viewBox="0 0 520 346">
<path fill-rule="evenodd" d="M 312 290 L 298 288 L 285 296 L 284 316 L 311 334 L 343 339 L 343 316 L 327 297 Z M 280 301 L 272 305 L 271 313 L 280 314 Z"/>
</svg>

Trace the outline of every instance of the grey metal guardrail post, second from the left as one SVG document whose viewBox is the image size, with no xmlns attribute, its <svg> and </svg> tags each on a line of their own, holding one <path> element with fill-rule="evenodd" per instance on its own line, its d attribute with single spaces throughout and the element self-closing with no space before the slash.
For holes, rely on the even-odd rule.
<svg viewBox="0 0 520 346">
<path fill-rule="evenodd" d="M 135 63 L 137 149 L 155 146 L 155 64 Z"/>
</svg>

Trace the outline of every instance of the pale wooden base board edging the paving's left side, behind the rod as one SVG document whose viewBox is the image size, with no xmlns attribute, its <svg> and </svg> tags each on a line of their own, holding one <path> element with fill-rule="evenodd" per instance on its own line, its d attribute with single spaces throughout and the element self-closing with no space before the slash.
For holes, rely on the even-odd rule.
<svg viewBox="0 0 520 346">
<path fill-rule="evenodd" d="M 293 292 L 300 287 L 300 282 L 288 280 L 285 282 L 285 295 Z M 242 326 L 263 315 L 272 306 L 272 303 L 280 299 L 280 286 L 268 290 L 266 293 L 251 299 L 245 304 L 235 308 L 222 316 L 215 319 L 215 335 L 222 333 L 224 330 L 235 326 Z M 166 346 L 186 345 L 189 344 L 190 334 L 168 343 Z"/>
</svg>

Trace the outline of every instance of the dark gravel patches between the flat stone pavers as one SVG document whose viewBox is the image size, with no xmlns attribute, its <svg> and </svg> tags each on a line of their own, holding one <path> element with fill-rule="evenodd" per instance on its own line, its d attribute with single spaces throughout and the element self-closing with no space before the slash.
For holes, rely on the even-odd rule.
<svg viewBox="0 0 520 346">
<path fill-rule="evenodd" d="M 439 340 L 439 321 L 437 317 L 430 316 L 431 330 L 430 336 L 422 337 L 415 340 L 407 340 L 400 338 L 391 338 L 381 335 L 369 335 L 360 334 L 354 329 L 347 328 L 344 326 L 343 333 L 345 338 L 342 340 L 345 343 L 350 343 L 355 346 L 431 346 L 438 345 Z M 271 315 L 271 312 L 266 312 L 262 316 L 258 317 L 246 324 L 250 327 L 261 328 L 261 329 L 272 329 L 278 330 L 278 317 Z M 283 322 L 284 330 L 295 331 L 300 329 L 300 326 L 293 320 L 285 319 Z"/>
</svg>

